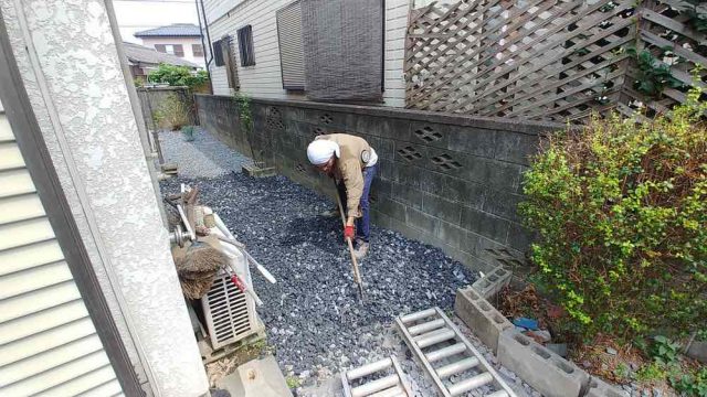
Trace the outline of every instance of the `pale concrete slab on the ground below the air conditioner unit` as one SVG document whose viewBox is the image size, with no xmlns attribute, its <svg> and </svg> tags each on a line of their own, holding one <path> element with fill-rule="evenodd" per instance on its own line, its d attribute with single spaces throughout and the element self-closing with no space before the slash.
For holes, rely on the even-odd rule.
<svg viewBox="0 0 707 397">
<path fill-rule="evenodd" d="M 231 396 L 292 397 L 285 377 L 272 355 L 239 366 L 236 372 L 218 380 L 217 386 L 226 389 Z"/>
</svg>

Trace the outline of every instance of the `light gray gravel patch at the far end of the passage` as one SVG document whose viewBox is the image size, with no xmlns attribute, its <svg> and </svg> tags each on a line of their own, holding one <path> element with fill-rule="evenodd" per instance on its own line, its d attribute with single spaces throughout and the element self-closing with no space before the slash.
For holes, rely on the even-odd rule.
<svg viewBox="0 0 707 397">
<path fill-rule="evenodd" d="M 214 178 L 231 171 L 241 171 L 251 160 L 214 139 L 199 127 L 194 128 L 194 140 L 187 142 L 179 131 L 159 133 L 166 163 L 177 163 L 183 178 Z"/>
</svg>

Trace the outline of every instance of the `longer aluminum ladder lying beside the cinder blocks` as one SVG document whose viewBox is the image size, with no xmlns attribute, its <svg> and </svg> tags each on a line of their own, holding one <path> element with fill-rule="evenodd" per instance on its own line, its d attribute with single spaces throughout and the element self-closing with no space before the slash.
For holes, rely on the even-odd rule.
<svg viewBox="0 0 707 397">
<path fill-rule="evenodd" d="M 517 397 L 440 308 L 401 314 L 395 324 L 442 396 L 462 396 L 489 386 L 494 391 L 487 397 Z M 465 378 L 452 382 L 454 375 L 463 374 Z"/>
</svg>

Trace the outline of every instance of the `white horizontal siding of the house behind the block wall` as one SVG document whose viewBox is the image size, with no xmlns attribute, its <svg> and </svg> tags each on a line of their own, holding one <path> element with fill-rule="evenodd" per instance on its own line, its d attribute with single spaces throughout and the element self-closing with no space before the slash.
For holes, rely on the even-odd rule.
<svg viewBox="0 0 707 397">
<path fill-rule="evenodd" d="M 253 26 L 255 65 L 240 64 L 238 46 L 234 53 L 238 64 L 240 90 L 253 97 L 277 99 L 306 99 L 298 92 L 283 89 L 277 41 L 277 10 L 291 4 L 292 0 L 204 0 L 209 22 L 209 33 L 214 42 L 223 36 L 235 37 L 235 32 L 244 25 Z M 229 7 L 232 4 L 232 7 Z M 230 8 L 230 9 L 229 9 Z M 384 93 L 387 106 L 404 106 L 403 49 L 408 21 L 408 0 L 386 0 L 386 54 Z M 226 10 L 229 9 L 229 10 Z M 225 11 L 224 11 L 225 10 Z M 224 66 L 210 66 L 213 93 L 231 95 Z"/>
</svg>

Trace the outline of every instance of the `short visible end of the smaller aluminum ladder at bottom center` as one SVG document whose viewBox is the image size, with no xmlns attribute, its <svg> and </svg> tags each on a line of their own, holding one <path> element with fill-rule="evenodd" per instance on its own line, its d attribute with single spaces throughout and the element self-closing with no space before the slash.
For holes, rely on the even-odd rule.
<svg viewBox="0 0 707 397">
<path fill-rule="evenodd" d="M 393 373 L 387 375 L 390 368 L 393 369 Z M 384 376 L 366 383 L 358 382 L 360 384 L 354 386 L 358 379 L 376 373 L 381 373 L 380 375 Z M 408 378 L 394 356 L 342 372 L 341 384 L 346 397 L 413 397 Z"/>
</svg>

